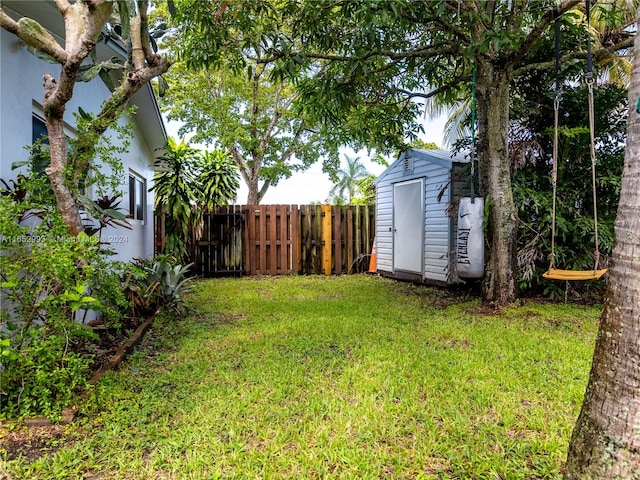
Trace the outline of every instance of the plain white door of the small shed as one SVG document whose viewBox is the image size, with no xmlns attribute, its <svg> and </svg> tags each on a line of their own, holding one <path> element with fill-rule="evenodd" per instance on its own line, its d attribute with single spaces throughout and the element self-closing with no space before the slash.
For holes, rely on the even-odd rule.
<svg viewBox="0 0 640 480">
<path fill-rule="evenodd" d="M 393 269 L 422 274 L 424 252 L 424 182 L 393 186 Z"/>
</svg>

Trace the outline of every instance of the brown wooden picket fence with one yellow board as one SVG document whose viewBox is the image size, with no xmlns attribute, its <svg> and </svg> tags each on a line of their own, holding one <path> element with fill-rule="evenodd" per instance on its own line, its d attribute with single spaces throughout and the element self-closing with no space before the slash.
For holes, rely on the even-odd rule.
<svg viewBox="0 0 640 480">
<path fill-rule="evenodd" d="M 203 277 L 340 275 L 368 270 L 375 235 L 367 205 L 232 205 L 203 215 L 188 261 Z M 165 222 L 156 218 L 156 252 Z"/>
</svg>

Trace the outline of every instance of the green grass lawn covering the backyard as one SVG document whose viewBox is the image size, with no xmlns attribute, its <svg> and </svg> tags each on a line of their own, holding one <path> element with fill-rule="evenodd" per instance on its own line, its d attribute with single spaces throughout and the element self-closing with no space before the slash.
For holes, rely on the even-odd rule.
<svg viewBox="0 0 640 480">
<path fill-rule="evenodd" d="M 376 276 L 201 281 L 9 478 L 560 476 L 600 308 Z M 1 472 L 1 470 L 0 470 Z M 0 475 L 1 476 L 1 475 Z"/>
</svg>

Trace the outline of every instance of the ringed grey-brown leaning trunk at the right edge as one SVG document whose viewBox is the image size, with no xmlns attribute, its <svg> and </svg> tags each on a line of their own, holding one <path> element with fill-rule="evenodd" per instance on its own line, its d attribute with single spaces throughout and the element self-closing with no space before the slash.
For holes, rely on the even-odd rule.
<svg viewBox="0 0 640 480">
<path fill-rule="evenodd" d="M 639 39 L 636 35 L 636 52 Z M 640 115 L 635 110 L 639 95 L 640 55 L 636 55 L 612 264 L 565 479 L 640 478 Z"/>
</svg>

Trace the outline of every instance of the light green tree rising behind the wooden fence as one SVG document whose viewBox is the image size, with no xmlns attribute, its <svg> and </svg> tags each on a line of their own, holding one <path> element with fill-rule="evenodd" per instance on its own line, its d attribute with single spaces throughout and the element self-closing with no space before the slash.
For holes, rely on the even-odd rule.
<svg viewBox="0 0 640 480">
<path fill-rule="evenodd" d="M 243 29 L 225 21 L 226 3 L 178 4 L 177 39 L 169 48 L 182 62 L 168 75 L 170 88 L 162 102 L 170 119 L 183 122 L 192 141 L 229 152 L 249 187 L 247 203 L 259 203 L 268 188 L 317 161 L 335 172 L 338 147 L 322 123 L 301 108 L 300 92 L 256 39 L 286 31 L 282 16 L 268 2 L 249 3 L 256 15 Z M 214 13 L 215 12 L 215 13 Z M 209 17 L 211 14 L 212 17 Z M 213 21 L 215 33 L 200 35 L 196 19 Z M 211 32 L 209 32 L 211 33 Z M 316 62 L 308 76 L 317 75 Z"/>
</svg>

